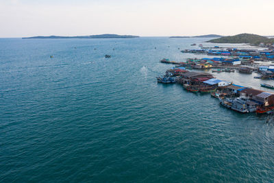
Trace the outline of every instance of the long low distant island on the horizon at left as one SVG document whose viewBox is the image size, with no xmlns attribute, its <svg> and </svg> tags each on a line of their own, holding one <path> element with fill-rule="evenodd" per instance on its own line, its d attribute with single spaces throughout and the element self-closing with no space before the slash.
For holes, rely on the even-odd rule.
<svg viewBox="0 0 274 183">
<path fill-rule="evenodd" d="M 131 35 L 118 35 L 118 34 L 100 34 L 100 35 L 92 35 L 92 36 L 34 36 L 23 39 L 60 39 L 60 38 L 139 38 L 139 36 L 131 36 Z"/>
</svg>

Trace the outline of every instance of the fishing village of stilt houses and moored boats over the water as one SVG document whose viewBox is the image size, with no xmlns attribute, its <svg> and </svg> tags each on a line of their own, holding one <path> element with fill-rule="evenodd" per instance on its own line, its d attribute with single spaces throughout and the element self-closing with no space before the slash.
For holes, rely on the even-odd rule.
<svg viewBox="0 0 274 183">
<path fill-rule="evenodd" d="M 192 44 L 194 46 L 196 44 Z M 202 45 L 199 45 L 202 47 Z M 212 73 L 258 73 L 253 79 L 274 79 L 273 49 L 235 49 L 212 47 L 210 49 L 186 49 L 182 53 L 206 54 L 214 58 L 187 58 L 183 62 L 162 59 L 160 62 L 175 64 L 164 76 L 156 77 L 159 83 L 182 84 L 184 89 L 192 93 L 208 93 L 219 99 L 225 108 L 241 113 L 256 114 L 274 113 L 274 93 L 255 88 L 240 86 L 232 81 L 218 80 Z M 221 56 L 221 57 L 215 57 Z M 197 71 L 192 71 L 196 69 Z M 212 73 L 205 71 L 212 71 Z M 262 87 L 274 89 L 271 84 L 260 84 Z"/>
</svg>

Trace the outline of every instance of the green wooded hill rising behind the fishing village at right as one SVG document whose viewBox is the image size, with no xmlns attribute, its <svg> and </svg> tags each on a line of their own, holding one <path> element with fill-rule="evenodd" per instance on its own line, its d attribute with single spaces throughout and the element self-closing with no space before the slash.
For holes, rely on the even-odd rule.
<svg viewBox="0 0 274 183">
<path fill-rule="evenodd" d="M 236 36 L 225 36 L 222 38 L 216 38 L 208 40 L 207 42 L 212 43 L 249 43 L 251 45 L 260 45 L 261 43 L 273 44 L 274 38 L 266 38 L 264 36 L 259 36 L 256 34 L 238 34 Z"/>
</svg>

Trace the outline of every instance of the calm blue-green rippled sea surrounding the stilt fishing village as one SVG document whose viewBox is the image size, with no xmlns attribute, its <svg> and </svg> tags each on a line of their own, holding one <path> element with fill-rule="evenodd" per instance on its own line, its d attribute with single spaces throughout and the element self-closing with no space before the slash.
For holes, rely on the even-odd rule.
<svg viewBox="0 0 274 183">
<path fill-rule="evenodd" d="M 0 39 L 0 182 L 273 182 L 266 116 L 155 80 L 205 40 Z"/>
</svg>

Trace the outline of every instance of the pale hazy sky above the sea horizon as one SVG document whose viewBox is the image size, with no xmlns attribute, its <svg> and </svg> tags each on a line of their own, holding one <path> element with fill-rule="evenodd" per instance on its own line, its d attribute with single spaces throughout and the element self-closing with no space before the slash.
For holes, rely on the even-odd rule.
<svg viewBox="0 0 274 183">
<path fill-rule="evenodd" d="M 0 0 L 0 37 L 274 35 L 273 0 Z"/>
</svg>

